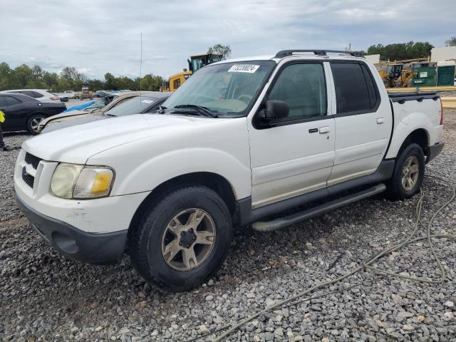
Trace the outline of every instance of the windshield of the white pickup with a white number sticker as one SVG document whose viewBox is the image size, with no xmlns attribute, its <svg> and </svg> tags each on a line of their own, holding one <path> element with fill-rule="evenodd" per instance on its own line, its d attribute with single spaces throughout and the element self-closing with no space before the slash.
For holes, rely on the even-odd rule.
<svg viewBox="0 0 456 342">
<path fill-rule="evenodd" d="M 176 106 L 199 105 L 218 116 L 246 115 L 247 108 L 261 91 L 261 85 L 274 66 L 274 61 L 205 66 L 183 83 L 162 106 L 172 110 Z"/>
</svg>

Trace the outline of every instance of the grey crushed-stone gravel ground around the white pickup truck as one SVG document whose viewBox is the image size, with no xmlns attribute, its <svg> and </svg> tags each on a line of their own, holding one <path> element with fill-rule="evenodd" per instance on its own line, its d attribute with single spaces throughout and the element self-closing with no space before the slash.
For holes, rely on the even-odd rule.
<svg viewBox="0 0 456 342">
<path fill-rule="evenodd" d="M 442 155 L 427 175 L 456 185 L 456 110 L 445 110 Z M 6 135 L 19 146 L 28 135 Z M 0 152 L 0 341 L 187 341 L 335 279 L 413 229 L 418 196 L 367 199 L 272 233 L 243 229 L 214 279 L 188 293 L 145 284 L 125 256 L 113 266 L 61 257 L 38 238 L 13 199 L 17 150 Z M 450 196 L 425 177 L 423 221 Z M 456 203 L 433 232 L 456 234 Z M 418 234 L 424 234 L 420 227 Z M 456 341 L 456 242 L 436 239 L 450 281 L 422 284 L 361 271 L 316 291 L 311 301 L 264 314 L 229 341 Z M 378 266 L 439 276 L 425 242 L 390 253 Z M 355 287 L 353 287 L 355 286 Z M 331 293 L 332 291 L 332 293 Z M 326 296 L 315 297 L 326 294 Z"/>
</svg>

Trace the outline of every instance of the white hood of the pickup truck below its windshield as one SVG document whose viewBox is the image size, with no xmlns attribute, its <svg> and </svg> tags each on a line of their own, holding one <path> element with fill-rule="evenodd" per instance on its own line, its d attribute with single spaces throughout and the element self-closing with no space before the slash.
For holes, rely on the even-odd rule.
<svg viewBox="0 0 456 342">
<path fill-rule="evenodd" d="M 167 139 L 178 136 L 181 129 L 208 125 L 223 118 L 201 118 L 180 115 L 135 114 L 99 120 L 36 135 L 22 148 L 43 160 L 84 164 L 93 155 L 118 145 L 151 137 Z"/>
</svg>

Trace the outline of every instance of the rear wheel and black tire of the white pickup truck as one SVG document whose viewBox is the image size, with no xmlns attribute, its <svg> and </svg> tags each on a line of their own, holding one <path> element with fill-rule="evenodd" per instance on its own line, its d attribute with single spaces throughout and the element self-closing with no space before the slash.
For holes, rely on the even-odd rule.
<svg viewBox="0 0 456 342">
<path fill-rule="evenodd" d="M 412 164 L 408 167 L 408 162 L 412 160 Z M 414 167 L 413 165 L 416 165 Z M 414 182 L 406 181 L 403 183 L 403 170 L 406 168 L 407 174 Z M 417 170 L 418 175 L 413 172 Z M 405 172 L 405 171 L 404 171 Z M 393 170 L 393 177 L 387 186 L 387 195 L 392 200 L 408 199 L 420 191 L 423 184 L 423 177 L 425 175 L 425 155 L 420 145 L 410 144 L 400 150 L 399 156 L 396 158 L 396 163 Z"/>
</svg>

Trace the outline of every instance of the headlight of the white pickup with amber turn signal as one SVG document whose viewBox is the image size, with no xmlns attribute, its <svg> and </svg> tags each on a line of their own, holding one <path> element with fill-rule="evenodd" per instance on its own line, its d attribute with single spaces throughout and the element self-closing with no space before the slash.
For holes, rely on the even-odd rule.
<svg viewBox="0 0 456 342">
<path fill-rule="evenodd" d="M 57 197 L 87 199 L 106 197 L 113 187 L 114 172 L 108 167 L 61 162 L 51 179 L 51 193 Z"/>
</svg>

